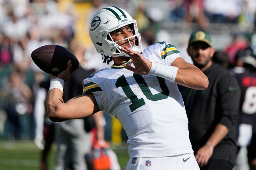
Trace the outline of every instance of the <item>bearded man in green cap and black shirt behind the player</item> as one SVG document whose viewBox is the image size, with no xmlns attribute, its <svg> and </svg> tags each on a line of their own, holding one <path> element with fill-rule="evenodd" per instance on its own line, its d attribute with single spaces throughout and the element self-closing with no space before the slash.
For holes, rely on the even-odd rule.
<svg viewBox="0 0 256 170">
<path fill-rule="evenodd" d="M 188 115 L 189 138 L 201 170 L 232 170 L 236 157 L 236 119 L 240 89 L 229 70 L 213 63 L 212 40 L 197 31 L 188 42 L 188 55 L 209 79 L 206 90 L 179 86 Z"/>
</svg>

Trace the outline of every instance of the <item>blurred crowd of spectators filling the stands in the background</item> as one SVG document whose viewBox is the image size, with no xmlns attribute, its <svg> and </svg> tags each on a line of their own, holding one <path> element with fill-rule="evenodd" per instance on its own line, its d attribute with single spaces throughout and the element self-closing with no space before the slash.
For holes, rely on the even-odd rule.
<svg viewBox="0 0 256 170">
<path fill-rule="evenodd" d="M 33 139 L 35 137 L 34 102 L 39 84 L 50 75 L 42 72 L 32 61 L 31 52 L 43 45 L 68 44 L 79 37 L 76 29 L 78 15 L 74 10 L 76 1 L 68 1 L 65 9 L 61 0 L 0 0 L 0 138 Z M 186 53 L 188 31 L 204 30 L 212 33 L 213 43 L 227 42 L 216 51 L 223 53 L 227 68 L 233 68 L 235 55 L 240 49 L 256 45 L 255 0 L 93 0 L 84 21 L 84 32 L 92 14 L 108 5 L 120 6 L 138 21 L 143 45 L 147 47 L 158 41 L 170 41 L 180 50 L 182 57 L 192 63 Z M 161 8 L 162 7 L 162 8 Z M 185 24 L 175 39 L 175 30 L 166 26 Z M 230 41 L 218 36 L 229 26 Z M 213 27 L 222 28 L 213 29 Z M 238 28 L 235 31 L 232 29 Z M 185 31 L 184 31 L 185 30 Z M 218 31 L 216 31 L 218 30 Z M 226 33 L 226 32 L 225 32 Z M 184 35 L 184 36 L 182 36 Z M 176 35 L 177 37 L 177 35 Z M 87 37 L 88 39 L 89 37 Z M 178 40 L 178 41 L 176 41 Z M 85 48 L 82 66 L 100 70 L 107 65 L 91 44 L 82 42 Z M 92 48 L 91 48 L 92 47 Z M 218 46 L 217 46 L 218 47 Z M 256 49 L 256 48 L 255 48 Z M 217 60 L 217 59 L 216 59 Z M 82 82 L 81 82 L 82 84 Z M 82 89 L 81 89 L 82 92 Z"/>
</svg>

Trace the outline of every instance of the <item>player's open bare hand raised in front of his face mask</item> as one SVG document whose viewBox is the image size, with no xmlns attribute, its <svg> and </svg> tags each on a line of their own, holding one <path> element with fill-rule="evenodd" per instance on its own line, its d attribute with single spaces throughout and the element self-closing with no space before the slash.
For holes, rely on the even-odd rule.
<svg viewBox="0 0 256 170">
<path fill-rule="evenodd" d="M 128 54 L 131 57 L 132 63 L 135 66 L 134 68 L 130 65 L 126 65 L 125 68 L 127 70 L 131 70 L 136 74 L 140 74 L 140 75 L 148 74 L 148 71 L 152 66 L 152 63 L 149 60 L 144 58 L 139 52 L 135 52 L 127 47 L 122 48 L 122 51 L 124 51 L 126 54 Z"/>
</svg>

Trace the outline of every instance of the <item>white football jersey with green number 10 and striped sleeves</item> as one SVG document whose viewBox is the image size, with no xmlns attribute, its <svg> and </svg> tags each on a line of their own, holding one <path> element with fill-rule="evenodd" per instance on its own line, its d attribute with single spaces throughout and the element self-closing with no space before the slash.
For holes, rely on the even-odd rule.
<svg viewBox="0 0 256 170">
<path fill-rule="evenodd" d="M 171 63 L 180 52 L 164 41 L 142 55 L 151 62 Z M 188 119 L 178 86 L 153 75 L 124 68 L 132 60 L 92 74 L 83 81 L 83 94 L 93 93 L 100 110 L 114 115 L 128 136 L 130 157 L 167 157 L 193 153 Z"/>
</svg>

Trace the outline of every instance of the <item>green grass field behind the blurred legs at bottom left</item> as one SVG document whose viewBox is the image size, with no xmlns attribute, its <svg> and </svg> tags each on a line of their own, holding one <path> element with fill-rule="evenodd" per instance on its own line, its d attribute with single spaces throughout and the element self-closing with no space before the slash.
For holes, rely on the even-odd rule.
<svg viewBox="0 0 256 170">
<path fill-rule="evenodd" d="M 112 146 L 116 152 L 121 169 L 125 169 L 129 155 L 127 147 Z M 48 156 L 49 170 L 53 169 L 56 145 L 53 144 Z M 39 169 L 41 151 L 30 140 L 0 140 L 0 170 L 36 170 Z"/>
</svg>

